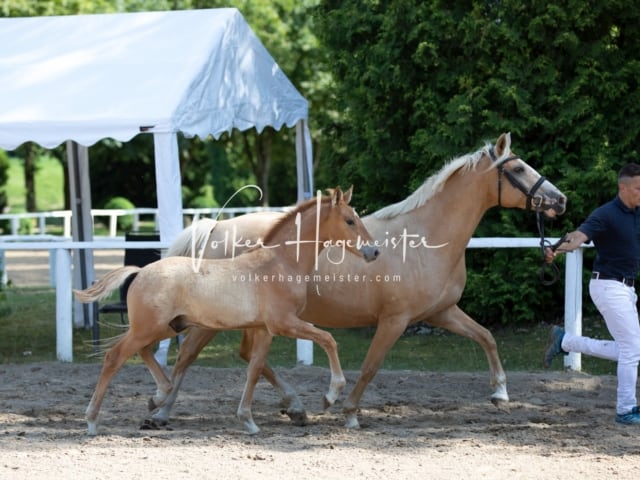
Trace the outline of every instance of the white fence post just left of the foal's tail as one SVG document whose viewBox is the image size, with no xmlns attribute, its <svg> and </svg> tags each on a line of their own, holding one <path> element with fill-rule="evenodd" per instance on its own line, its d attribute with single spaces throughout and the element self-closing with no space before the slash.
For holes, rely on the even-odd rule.
<svg viewBox="0 0 640 480">
<path fill-rule="evenodd" d="M 71 318 L 71 253 L 56 252 L 56 352 L 61 362 L 73 362 L 73 321 Z"/>
</svg>

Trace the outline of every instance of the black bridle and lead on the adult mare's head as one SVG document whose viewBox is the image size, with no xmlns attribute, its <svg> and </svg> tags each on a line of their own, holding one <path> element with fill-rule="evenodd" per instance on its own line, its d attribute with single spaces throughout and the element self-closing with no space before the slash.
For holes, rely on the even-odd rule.
<svg viewBox="0 0 640 480">
<path fill-rule="evenodd" d="M 498 157 L 496 157 L 495 151 L 493 148 L 489 149 L 489 155 L 491 156 L 491 160 L 496 162 Z M 516 155 L 511 155 L 510 157 L 505 158 L 500 162 L 500 164 L 496 167 L 498 169 L 498 206 L 502 207 L 502 177 L 504 176 L 513 188 L 520 190 L 523 195 L 527 198 L 526 211 L 535 210 L 536 212 L 536 225 L 538 227 L 538 234 L 540 235 L 540 249 L 542 251 L 542 258 L 544 259 L 544 249 L 546 247 L 551 248 L 552 250 L 556 250 L 558 246 L 565 241 L 565 237 L 561 238 L 557 243 L 551 245 L 548 240 L 544 238 L 544 216 L 542 213 L 542 202 L 543 199 L 541 196 L 535 196 L 535 193 L 542 186 L 544 182 L 547 181 L 546 177 L 540 175 L 540 178 L 534 183 L 530 189 L 527 189 L 509 170 L 504 169 L 504 164 L 510 162 L 511 160 L 517 160 L 520 157 Z M 547 270 L 551 269 L 549 273 Z M 540 283 L 543 285 L 553 285 L 560 276 L 560 270 L 555 263 L 546 263 L 544 260 L 542 262 L 542 267 L 540 267 L 539 277 Z"/>
</svg>

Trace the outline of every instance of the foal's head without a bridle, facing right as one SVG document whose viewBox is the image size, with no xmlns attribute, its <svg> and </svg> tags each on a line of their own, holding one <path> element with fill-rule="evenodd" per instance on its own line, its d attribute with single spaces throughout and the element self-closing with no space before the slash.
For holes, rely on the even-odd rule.
<svg viewBox="0 0 640 480">
<path fill-rule="evenodd" d="M 373 246 L 373 238 L 362 220 L 349 205 L 353 186 L 346 192 L 336 187 L 329 190 L 329 193 L 329 211 L 321 225 L 324 236 L 334 245 L 344 245 L 348 251 L 363 257 L 367 262 L 375 260 L 380 252 Z"/>
</svg>

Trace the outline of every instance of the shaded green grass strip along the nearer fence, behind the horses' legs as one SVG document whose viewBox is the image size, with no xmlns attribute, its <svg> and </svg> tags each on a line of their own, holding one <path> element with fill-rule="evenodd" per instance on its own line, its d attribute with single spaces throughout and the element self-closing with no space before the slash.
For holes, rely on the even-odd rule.
<svg viewBox="0 0 640 480">
<path fill-rule="evenodd" d="M 4 315 L 0 316 L 0 363 L 30 363 L 56 360 L 55 291 L 51 288 L 8 288 L 6 299 L 0 303 Z M 8 311 L 8 313 L 7 313 Z M 101 338 L 109 338 L 122 332 L 119 315 L 102 315 Z M 608 338 L 600 321 L 585 321 L 584 331 L 589 336 Z M 339 345 L 343 368 L 359 370 L 374 329 L 329 329 Z M 544 350 L 548 325 L 530 328 L 505 327 L 494 329 L 505 370 L 538 371 Z M 73 355 L 76 363 L 100 362 L 94 356 L 92 330 L 74 329 Z M 240 332 L 221 332 L 198 358 L 196 364 L 216 367 L 244 366 L 238 356 Z M 172 343 L 170 361 L 175 360 L 175 342 Z M 295 341 L 289 338 L 274 339 L 269 361 L 276 366 L 291 367 L 296 364 Z M 139 358 L 131 362 L 139 363 Z M 327 367 L 324 352 L 314 345 L 314 364 Z M 615 364 L 583 356 L 583 371 L 591 374 L 615 374 Z M 475 342 L 433 329 L 426 335 L 405 334 L 391 349 L 383 364 L 385 369 L 424 371 L 488 371 L 484 352 Z M 557 359 L 554 370 L 562 369 Z"/>
</svg>

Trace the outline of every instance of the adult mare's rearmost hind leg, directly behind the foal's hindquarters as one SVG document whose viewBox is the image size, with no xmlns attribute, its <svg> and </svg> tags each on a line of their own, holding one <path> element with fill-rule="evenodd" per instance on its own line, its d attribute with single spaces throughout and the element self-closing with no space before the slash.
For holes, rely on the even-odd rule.
<svg viewBox="0 0 640 480">
<path fill-rule="evenodd" d="M 171 372 L 171 391 L 164 398 L 156 394 L 156 397 L 149 399 L 149 410 L 155 410 L 159 407 L 158 411 L 151 416 L 158 425 L 166 425 L 169 422 L 171 408 L 178 398 L 178 391 L 187 369 L 217 333 L 216 330 L 192 327 L 180 344 L 178 358 Z"/>
</svg>

